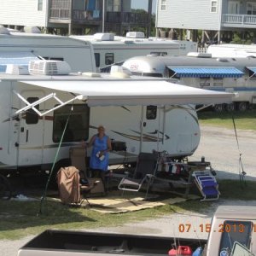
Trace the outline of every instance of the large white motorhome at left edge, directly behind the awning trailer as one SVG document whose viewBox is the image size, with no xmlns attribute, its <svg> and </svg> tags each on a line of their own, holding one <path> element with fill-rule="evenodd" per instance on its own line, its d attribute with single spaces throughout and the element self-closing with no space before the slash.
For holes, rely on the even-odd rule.
<svg viewBox="0 0 256 256">
<path fill-rule="evenodd" d="M 28 66 L 28 62 L 45 60 L 67 61 L 72 72 L 96 72 L 90 42 L 33 32 L 12 32 L 0 27 L 0 72 L 7 64 Z"/>
</svg>

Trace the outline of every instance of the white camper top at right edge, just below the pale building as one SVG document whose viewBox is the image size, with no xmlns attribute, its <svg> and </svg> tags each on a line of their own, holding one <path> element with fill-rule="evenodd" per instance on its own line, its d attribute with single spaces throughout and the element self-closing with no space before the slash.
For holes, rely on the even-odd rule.
<svg viewBox="0 0 256 256">
<path fill-rule="evenodd" d="M 212 57 L 246 58 L 256 57 L 255 44 L 212 44 L 207 48 Z"/>
</svg>

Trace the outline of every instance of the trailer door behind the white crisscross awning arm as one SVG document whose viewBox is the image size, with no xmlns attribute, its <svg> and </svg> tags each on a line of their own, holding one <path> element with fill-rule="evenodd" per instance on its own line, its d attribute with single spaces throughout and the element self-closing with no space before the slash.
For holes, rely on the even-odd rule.
<svg viewBox="0 0 256 256">
<path fill-rule="evenodd" d="M 41 90 L 25 90 L 20 93 L 27 102 L 36 102 L 44 96 Z M 20 108 L 25 103 L 20 102 Z M 44 102 L 37 105 L 44 110 Z M 20 130 L 18 143 L 18 166 L 38 166 L 42 164 L 44 151 L 44 117 L 39 117 L 32 109 L 20 114 Z"/>
</svg>

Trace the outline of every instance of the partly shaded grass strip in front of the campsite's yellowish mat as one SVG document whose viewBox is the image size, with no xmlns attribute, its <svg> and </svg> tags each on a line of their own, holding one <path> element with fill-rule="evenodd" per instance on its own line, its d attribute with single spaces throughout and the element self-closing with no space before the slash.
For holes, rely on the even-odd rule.
<svg viewBox="0 0 256 256">
<path fill-rule="evenodd" d="M 239 181 L 220 181 L 219 190 L 222 199 L 256 199 L 255 182 L 247 182 L 245 187 L 241 187 Z M 185 210 L 200 212 L 202 209 L 211 207 L 211 204 L 211 201 L 185 201 L 176 205 L 154 207 L 137 212 L 102 214 L 91 210 L 90 207 L 67 207 L 59 202 L 46 201 L 43 214 L 38 214 L 39 201 L 0 201 L 0 239 L 19 239 L 23 236 L 38 234 L 46 229 L 79 230 L 117 226 L 160 217 L 172 212 Z"/>
</svg>

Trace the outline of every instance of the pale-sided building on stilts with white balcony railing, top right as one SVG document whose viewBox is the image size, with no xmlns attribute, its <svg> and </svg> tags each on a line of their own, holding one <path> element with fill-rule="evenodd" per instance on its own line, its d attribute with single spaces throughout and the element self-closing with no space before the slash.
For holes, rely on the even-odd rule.
<svg viewBox="0 0 256 256">
<path fill-rule="evenodd" d="M 158 31 L 169 30 L 198 40 L 198 31 L 203 31 L 201 41 L 230 42 L 234 32 L 255 32 L 255 0 L 158 0 L 156 11 Z M 165 30 L 161 30 L 165 28 Z"/>
</svg>

